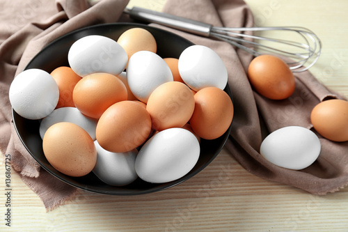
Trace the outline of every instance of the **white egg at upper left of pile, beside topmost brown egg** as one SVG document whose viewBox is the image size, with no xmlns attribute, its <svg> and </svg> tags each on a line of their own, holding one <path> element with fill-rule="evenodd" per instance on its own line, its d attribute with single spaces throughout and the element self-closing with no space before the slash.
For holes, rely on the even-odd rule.
<svg viewBox="0 0 348 232">
<path fill-rule="evenodd" d="M 81 77 L 95 72 L 119 75 L 127 65 L 128 56 L 115 40 L 92 35 L 72 44 L 68 61 L 72 70 Z"/>
</svg>

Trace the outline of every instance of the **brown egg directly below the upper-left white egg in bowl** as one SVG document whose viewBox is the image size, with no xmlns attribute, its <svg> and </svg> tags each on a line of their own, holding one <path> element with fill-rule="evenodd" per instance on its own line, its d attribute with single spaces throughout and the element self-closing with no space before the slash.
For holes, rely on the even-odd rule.
<svg viewBox="0 0 348 232">
<path fill-rule="evenodd" d="M 108 107 L 127 100 L 127 88 L 114 75 L 93 73 L 76 84 L 72 99 L 82 114 L 90 118 L 100 118 Z"/>
</svg>

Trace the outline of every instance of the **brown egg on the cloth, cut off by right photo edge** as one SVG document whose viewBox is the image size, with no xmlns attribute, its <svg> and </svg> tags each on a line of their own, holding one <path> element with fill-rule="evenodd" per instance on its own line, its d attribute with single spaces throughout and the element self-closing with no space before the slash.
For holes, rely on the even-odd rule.
<svg viewBox="0 0 348 232">
<path fill-rule="evenodd" d="M 310 114 L 314 129 L 332 141 L 348 141 L 348 102 L 326 100 L 316 105 Z"/>
</svg>

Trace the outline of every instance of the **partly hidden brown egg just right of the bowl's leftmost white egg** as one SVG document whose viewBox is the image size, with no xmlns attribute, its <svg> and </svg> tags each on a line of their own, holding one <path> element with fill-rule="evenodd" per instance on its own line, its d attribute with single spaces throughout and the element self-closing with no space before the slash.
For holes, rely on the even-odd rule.
<svg viewBox="0 0 348 232">
<path fill-rule="evenodd" d="M 51 72 L 59 88 L 59 100 L 56 108 L 75 107 L 72 101 L 72 91 L 81 77 L 70 67 L 61 66 Z"/>
</svg>

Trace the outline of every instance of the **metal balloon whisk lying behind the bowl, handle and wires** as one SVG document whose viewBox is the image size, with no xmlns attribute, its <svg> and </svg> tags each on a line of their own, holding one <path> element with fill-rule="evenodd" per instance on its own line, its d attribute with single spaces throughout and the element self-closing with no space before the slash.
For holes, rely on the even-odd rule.
<svg viewBox="0 0 348 232">
<path fill-rule="evenodd" d="M 229 42 L 231 45 L 243 49 L 254 56 L 259 56 L 260 54 L 278 55 L 287 61 L 292 72 L 303 72 L 312 67 L 319 59 L 322 49 L 322 44 L 315 33 L 303 27 L 216 27 L 211 24 L 139 7 L 126 8 L 124 12 L 136 20 L 154 22 L 194 33 L 198 36 Z M 268 34 L 275 33 L 276 36 L 264 37 L 262 36 L 264 31 L 268 31 Z M 280 35 L 280 33 L 283 34 Z M 292 35 L 289 33 L 292 33 Z M 285 39 L 293 39 L 294 36 L 298 37 L 297 41 Z"/>
</svg>

